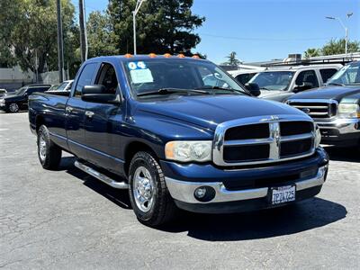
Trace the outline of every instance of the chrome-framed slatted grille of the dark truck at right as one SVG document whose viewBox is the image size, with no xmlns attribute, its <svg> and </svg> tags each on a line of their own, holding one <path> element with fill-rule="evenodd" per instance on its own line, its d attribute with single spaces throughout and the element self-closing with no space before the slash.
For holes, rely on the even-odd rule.
<svg viewBox="0 0 360 270">
<path fill-rule="evenodd" d="M 337 115 L 338 106 L 333 101 L 290 101 L 289 105 L 307 113 L 311 118 L 314 119 L 327 119 Z"/>
</svg>

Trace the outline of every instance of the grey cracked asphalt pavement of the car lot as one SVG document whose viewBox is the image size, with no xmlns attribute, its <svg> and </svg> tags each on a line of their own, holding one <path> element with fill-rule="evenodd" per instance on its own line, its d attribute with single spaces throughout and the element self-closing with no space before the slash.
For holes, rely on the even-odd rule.
<svg viewBox="0 0 360 270">
<path fill-rule="evenodd" d="M 126 191 L 65 155 L 42 169 L 26 112 L 0 113 L 0 267 L 4 269 L 359 269 L 360 153 L 326 148 L 321 193 L 297 205 L 140 224 Z"/>
</svg>

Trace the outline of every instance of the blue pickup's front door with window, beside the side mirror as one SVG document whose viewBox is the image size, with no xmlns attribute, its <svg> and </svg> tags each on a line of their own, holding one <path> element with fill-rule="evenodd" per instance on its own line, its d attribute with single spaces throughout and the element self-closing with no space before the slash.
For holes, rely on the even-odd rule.
<svg viewBox="0 0 360 270">
<path fill-rule="evenodd" d="M 104 85 L 103 94 L 113 94 L 120 98 L 120 86 L 115 67 L 111 63 L 102 63 L 94 85 Z M 121 173 L 121 121 L 122 104 L 92 103 L 86 104 L 85 138 L 89 147 L 87 159 L 97 166 L 112 172 Z"/>
</svg>

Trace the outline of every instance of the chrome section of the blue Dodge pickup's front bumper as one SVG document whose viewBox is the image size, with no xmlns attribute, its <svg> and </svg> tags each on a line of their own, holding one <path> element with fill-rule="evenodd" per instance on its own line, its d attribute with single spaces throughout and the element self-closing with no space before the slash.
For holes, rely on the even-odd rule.
<svg viewBox="0 0 360 270">
<path fill-rule="evenodd" d="M 324 184 L 327 167 L 328 166 L 321 166 L 318 170 L 318 174 L 312 178 L 295 181 L 296 191 Z M 269 191 L 269 187 L 229 191 L 221 182 L 184 182 L 169 177 L 165 177 L 165 180 L 171 196 L 177 201 L 187 203 L 209 203 L 199 202 L 194 197 L 195 189 L 200 186 L 211 186 L 215 190 L 215 197 L 210 202 L 235 202 L 259 199 L 266 197 Z"/>
</svg>

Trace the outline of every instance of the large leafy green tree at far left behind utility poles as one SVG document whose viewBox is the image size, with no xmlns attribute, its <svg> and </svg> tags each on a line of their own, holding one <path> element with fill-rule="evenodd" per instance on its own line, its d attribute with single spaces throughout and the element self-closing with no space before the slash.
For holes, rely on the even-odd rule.
<svg viewBox="0 0 360 270">
<path fill-rule="evenodd" d="M 65 40 L 74 26 L 74 5 L 61 0 Z M 1 0 L 1 58 L 39 74 L 47 65 L 58 67 L 57 13 L 55 0 Z M 64 44 L 67 48 L 67 44 Z M 72 56 L 68 55 L 67 59 Z M 38 61 L 36 61 L 38 59 Z M 36 65 L 36 62 L 38 65 Z"/>
</svg>

